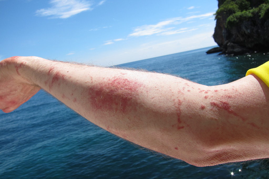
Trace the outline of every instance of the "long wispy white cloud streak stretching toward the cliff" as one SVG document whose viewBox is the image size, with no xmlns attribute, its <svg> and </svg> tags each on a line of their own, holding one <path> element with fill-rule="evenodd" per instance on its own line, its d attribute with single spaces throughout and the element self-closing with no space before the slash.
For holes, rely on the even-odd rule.
<svg viewBox="0 0 269 179">
<path fill-rule="evenodd" d="M 129 34 L 129 36 L 145 36 L 145 35 L 153 35 L 153 34 L 169 35 L 169 33 L 165 33 L 165 32 L 169 32 L 169 31 L 171 31 L 171 29 L 175 28 L 175 27 L 167 27 L 169 25 L 171 26 L 171 25 L 181 24 L 183 22 L 191 21 L 191 20 L 196 19 L 196 18 L 210 17 L 210 16 L 213 16 L 213 14 L 214 14 L 213 12 L 210 12 L 210 13 L 206 13 L 206 14 L 193 15 L 193 16 L 189 16 L 189 17 L 185 17 L 185 18 L 175 17 L 172 19 L 158 22 L 155 25 L 142 25 L 140 27 L 134 28 L 133 32 L 131 34 Z M 180 29 L 175 30 L 175 31 L 180 31 Z"/>
</svg>

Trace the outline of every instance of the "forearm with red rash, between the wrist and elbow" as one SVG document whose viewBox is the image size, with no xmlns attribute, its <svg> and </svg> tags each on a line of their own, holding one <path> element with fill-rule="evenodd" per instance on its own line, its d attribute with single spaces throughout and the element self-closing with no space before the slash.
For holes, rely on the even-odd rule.
<svg viewBox="0 0 269 179">
<path fill-rule="evenodd" d="M 190 142 L 195 122 L 188 120 L 204 115 L 194 99 L 207 86 L 171 75 L 47 60 L 26 68 L 19 71 L 30 81 L 111 133 L 185 161 L 199 151 Z"/>
</svg>

